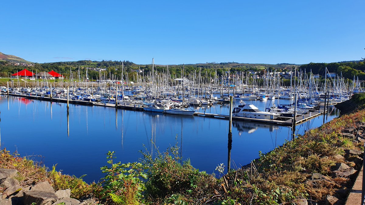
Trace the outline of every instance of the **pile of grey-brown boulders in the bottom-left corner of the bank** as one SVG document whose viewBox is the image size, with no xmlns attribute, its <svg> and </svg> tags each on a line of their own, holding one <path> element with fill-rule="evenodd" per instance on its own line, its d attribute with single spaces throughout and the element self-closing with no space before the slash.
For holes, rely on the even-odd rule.
<svg viewBox="0 0 365 205">
<path fill-rule="evenodd" d="M 71 190 L 55 191 L 49 182 L 32 182 L 20 185 L 14 179 L 18 175 L 15 169 L 0 168 L 0 187 L 3 190 L 1 205 L 96 205 L 98 200 L 92 197 L 83 197 L 79 200 L 71 198 Z"/>
</svg>

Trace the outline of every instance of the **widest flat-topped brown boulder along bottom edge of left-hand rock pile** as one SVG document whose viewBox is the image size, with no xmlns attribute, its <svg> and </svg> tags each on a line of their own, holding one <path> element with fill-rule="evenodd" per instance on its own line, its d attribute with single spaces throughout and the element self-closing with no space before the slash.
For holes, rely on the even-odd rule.
<svg viewBox="0 0 365 205">
<path fill-rule="evenodd" d="M 24 204 L 36 203 L 37 205 L 51 205 L 57 201 L 57 196 L 51 192 L 26 191 L 24 192 Z"/>
</svg>

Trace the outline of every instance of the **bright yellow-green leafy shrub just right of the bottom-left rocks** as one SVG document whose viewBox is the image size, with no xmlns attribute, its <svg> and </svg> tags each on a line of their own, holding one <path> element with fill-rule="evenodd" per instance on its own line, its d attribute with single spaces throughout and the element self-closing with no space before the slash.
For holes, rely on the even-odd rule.
<svg viewBox="0 0 365 205">
<path fill-rule="evenodd" d="M 107 153 L 107 163 L 110 166 L 101 167 L 101 171 L 106 173 L 100 186 L 103 186 L 100 197 L 115 204 L 132 205 L 139 204 L 142 200 L 142 192 L 145 190 L 143 179 L 147 175 L 143 173 L 141 163 L 133 162 L 122 164 L 114 162 L 114 151 Z"/>
</svg>

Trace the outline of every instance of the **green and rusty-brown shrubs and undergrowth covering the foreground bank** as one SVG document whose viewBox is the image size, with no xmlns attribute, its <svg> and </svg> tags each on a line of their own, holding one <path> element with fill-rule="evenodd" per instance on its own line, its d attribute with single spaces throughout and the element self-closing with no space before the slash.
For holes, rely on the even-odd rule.
<svg viewBox="0 0 365 205">
<path fill-rule="evenodd" d="M 354 96 L 362 104 L 364 98 L 365 94 Z M 139 162 L 126 164 L 108 152 L 107 165 L 101 167 L 105 177 L 92 184 L 63 175 L 55 166 L 47 170 L 6 149 L 1 150 L 0 165 L 17 169 L 16 179 L 22 185 L 48 181 L 55 190 L 71 189 L 74 198 L 91 194 L 103 204 L 296 204 L 302 199 L 324 204 L 328 195 L 346 198 L 352 186 L 352 178 L 333 175 L 333 167 L 344 163 L 357 168 L 361 163 L 361 158 L 346 153 L 363 151 L 363 143 L 342 134 L 351 128 L 362 135 L 361 127 L 365 127 L 364 109 L 333 119 L 268 154 L 260 153 L 253 166 L 229 170 L 221 178 L 195 169 L 189 160 L 180 163 L 177 144 L 164 152 L 156 149 L 154 155 L 146 149 Z M 217 170 L 223 174 L 224 165 Z M 323 178 L 314 180 L 314 173 Z"/>
</svg>

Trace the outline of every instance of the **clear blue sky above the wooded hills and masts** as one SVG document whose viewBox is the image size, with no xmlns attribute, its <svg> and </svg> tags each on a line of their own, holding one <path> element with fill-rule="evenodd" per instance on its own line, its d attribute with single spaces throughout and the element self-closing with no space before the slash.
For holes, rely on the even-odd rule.
<svg viewBox="0 0 365 205">
<path fill-rule="evenodd" d="M 32 62 L 338 62 L 365 57 L 364 0 L 3 1 L 0 52 Z"/>
</svg>

